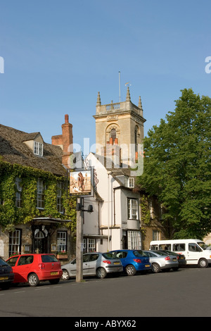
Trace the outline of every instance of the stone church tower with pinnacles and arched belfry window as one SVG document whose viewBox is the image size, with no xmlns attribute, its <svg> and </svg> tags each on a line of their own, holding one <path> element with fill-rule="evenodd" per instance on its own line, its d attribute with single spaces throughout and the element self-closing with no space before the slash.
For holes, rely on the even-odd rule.
<svg viewBox="0 0 211 331">
<path fill-rule="evenodd" d="M 126 101 L 101 104 L 100 92 L 96 103 L 96 154 L 116 156 L 120 164 L 129 164 L 138 156 L 139 144 L 143 143 L 143 109 L 132 104 L 129 87 Z M 107 167 L 108 168 L 108 167 Z"/>
</svg>

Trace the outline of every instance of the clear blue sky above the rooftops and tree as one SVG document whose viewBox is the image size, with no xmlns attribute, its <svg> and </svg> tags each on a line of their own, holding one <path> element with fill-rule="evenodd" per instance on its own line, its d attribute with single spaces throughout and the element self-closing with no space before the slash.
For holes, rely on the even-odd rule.
<svg viewBox="0 0 211 331">
<path fill-rule="evenodd" d="M 211 96 L 210 0 L 0 0 L 0 111 L 3 125 L 95 143 L 96 99 L 139 95 L 145 135 L 181 89 Z"/>
</svg>

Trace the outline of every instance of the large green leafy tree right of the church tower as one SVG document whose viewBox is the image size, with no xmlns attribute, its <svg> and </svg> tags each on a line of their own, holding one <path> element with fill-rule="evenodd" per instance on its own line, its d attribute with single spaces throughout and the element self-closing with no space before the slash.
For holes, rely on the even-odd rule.
<svg viewBox="0 0 211 331">
<path fill-rule="evenodd" d="M 139 184 L 165 208 L 169 238 L 203 238 L 211 232 L 211 99 L 181 91 L 173 112 L 144 139 Z"/>
</svg>

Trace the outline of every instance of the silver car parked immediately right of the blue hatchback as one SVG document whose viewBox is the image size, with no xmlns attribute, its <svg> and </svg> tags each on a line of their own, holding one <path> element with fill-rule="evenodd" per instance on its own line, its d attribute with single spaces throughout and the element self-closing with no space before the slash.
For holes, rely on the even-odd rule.
<svg viewBox="0 0 211 331">
<path fill-rule="evenodd" d="M 158 251 L 143 251 L 149 258 L 153 273 L 160 273 L 160 270 L 178 270 L 179 263 L 177 256 L 159 253 Z"/>
</svg>

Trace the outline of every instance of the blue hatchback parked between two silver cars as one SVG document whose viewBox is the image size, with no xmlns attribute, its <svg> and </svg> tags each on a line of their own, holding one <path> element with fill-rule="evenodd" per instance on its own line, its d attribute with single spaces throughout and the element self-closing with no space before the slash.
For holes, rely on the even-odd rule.
<svg viewBox="0 0 211 331">
<path fill-rule="evenodd" d="M 140 249 L 117 249 L 110 251 L 117 258 L 120 258 L 124 272 L 133 276 L 137 271 L 151 270 L 151 263 Z"/>
</svg>

